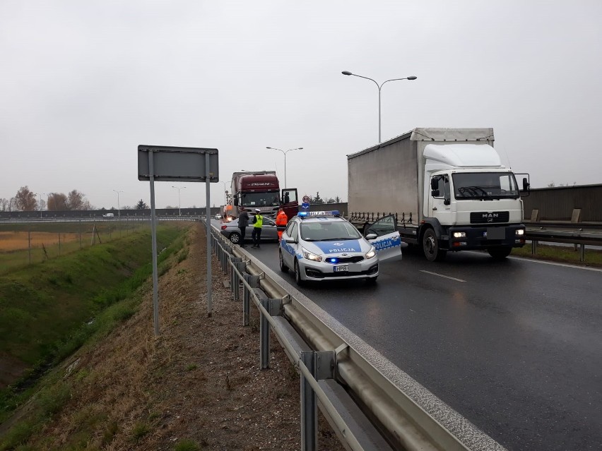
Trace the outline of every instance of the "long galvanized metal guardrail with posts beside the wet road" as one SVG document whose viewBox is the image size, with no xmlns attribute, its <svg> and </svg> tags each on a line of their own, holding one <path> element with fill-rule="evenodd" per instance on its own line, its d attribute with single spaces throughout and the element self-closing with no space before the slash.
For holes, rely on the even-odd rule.
<svg viewBox="0 0 602 451">
<path fill-rule="evenodd" d="M 230 275 L 235 301 L 240 300 L 242 284 L 243 325 L 249 325 L 251 302 L 259 309 L 261 368 L 269 366 L 271 328 L 300 372 L 302 450 L 317 449 L 316 399 L 348 450 L 504 449 L 429 394 L 447 418 L 461 425 L 457 431 L 470 431 L 470 446 L 462 443 L 374 362 L 318 318 L 307 301 L 302 301 L 305 296 L 289 293 L 271 276 L 271 270 L 240 248 L 233 249 L 216 229 L 211 228 L 211 234 L 213 251 L 222 270 Z M 426 392 L 423 387 L 421 390 Z"/>
</svg>

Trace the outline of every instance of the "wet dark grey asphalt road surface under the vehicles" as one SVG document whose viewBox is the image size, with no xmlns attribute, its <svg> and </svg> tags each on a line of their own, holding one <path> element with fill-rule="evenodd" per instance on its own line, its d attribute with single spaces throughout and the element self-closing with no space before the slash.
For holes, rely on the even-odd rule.
<svg viewBox="0 0 602 451">
<path fill-rule="evenodd" d="M 602 450 L 602 271 L 403 251 L 374 287 L 300 291 L 509 450 Z"/>
</svg>

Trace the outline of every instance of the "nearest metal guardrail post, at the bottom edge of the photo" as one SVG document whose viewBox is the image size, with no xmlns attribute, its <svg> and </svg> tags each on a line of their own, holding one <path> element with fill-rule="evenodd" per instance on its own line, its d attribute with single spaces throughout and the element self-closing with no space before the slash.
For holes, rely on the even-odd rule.
<svg viewBox="0 0 602 451">
<path fill-rule="evenodd" d="M 316 353 L 302 352 L 301 361 L 312 375 L 316 375 Z M 318 404 L 316 393 L 301 374 L 301 450 L 318 449 Z"/>
</svg>

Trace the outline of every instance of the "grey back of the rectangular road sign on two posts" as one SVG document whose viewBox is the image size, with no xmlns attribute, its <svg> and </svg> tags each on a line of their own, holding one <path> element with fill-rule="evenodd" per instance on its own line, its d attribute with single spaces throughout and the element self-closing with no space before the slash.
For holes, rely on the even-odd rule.
<svg viewBox="0 0 602 451">
<path fill-rule="evenodd" d="M 148 152 L 153 152 L 153 172 L 149 169 Z M 207 179 L 206 157 L 209 155 Z M 138 180 L 155 181 L 219 181 L 218 150 L 176 148 L 165 145 L 138 145 Z"/>
</svg>

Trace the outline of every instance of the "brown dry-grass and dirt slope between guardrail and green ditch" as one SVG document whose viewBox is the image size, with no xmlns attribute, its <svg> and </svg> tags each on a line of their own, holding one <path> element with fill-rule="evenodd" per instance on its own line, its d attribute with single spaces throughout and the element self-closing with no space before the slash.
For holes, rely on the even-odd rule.
<svg viewBox="0 0 602 451">
<path fill-rule="evenodd" d="M 160 277 L 160 337 L 147 283 L 137 313 L 59 368 L 54 378 L 68 396 L 20 451 L 300 449 L 297 373 L 276 339 L 271 369 L 259 370 L 258 327 L 242 327 L 215 257 L 207 317 L 200 225 L 188 241 Z M 319 449 L 343 450 L 320 424 Z"/>
</svg>

